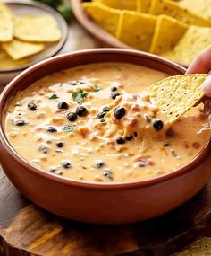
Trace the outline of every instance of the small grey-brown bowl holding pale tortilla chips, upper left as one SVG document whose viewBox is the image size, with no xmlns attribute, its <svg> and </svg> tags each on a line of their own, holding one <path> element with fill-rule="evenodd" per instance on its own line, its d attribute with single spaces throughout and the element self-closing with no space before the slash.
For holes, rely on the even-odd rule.
<svg viewBox="0 0 211 256">
<path fill-rule="evenodd" d="M 46 4 L 0 0 L 0 84 L 54 56 L 67 34 L 63 17 Z"/>
</svg>

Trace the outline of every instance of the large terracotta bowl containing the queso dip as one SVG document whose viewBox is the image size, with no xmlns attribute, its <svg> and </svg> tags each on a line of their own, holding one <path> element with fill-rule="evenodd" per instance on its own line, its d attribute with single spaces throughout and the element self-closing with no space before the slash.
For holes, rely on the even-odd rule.
<svg viewBox="0 0 211 256">
<path fill-rule="evenodd" d="M 182 66 L 164 58 L 130 49 L 83 50 L 31 66 L 1 94 L 0 160 L 4 172 L 32 202 L 72 220 L 123 224 L 163 215 L 193 197 L 210 178 L 210 141 L 197 157 L 176 171 L 148 181 L 97 183 L 65 179 L 32 166 L 15 152 L 4 133 L 4 110 L 14 93 L 55 71 L 105 61 L 148 66 L 169 75 L 185 72 Z"/>
</svg>

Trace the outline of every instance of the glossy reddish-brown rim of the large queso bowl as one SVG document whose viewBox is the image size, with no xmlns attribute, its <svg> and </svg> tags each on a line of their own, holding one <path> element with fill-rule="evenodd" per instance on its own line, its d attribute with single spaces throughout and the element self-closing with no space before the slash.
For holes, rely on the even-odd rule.
<svg viewBox="0 0 211 256">
<path fill-rule="evenodd" d="M 13 88 L 19 84 L 22 78 L 27 77 L 29 74 L 36 72 L 37 69 L 43 68 L 48 64 L 54 63 L 57 60 L 63 60 L 63 58 L 71 58 L 76 56 L 83 56 L 86 57 L 87 55 L 93 55 L 97 54 L 100 55 L 102 53 L 109 53 L 109 54 L 120 54 L 120 55 L 131 55 L 134 57 L 147 57 L 148 59 L 152 59 L 154 61 L 163 63 L 167 66 L 171 66 L 173 68 L 176 68 L 178 71 L 185 72 L 186 69 L 177 64 L 173 61 L 170 61 L 168 59 L 165 59 L 164 57 L 158 57 L 153 54 L 149 54 L 146 52 L 133 50 L 133 49 L 83 49 L 79 51 L 75 51 L 72 53 L 65 53 L 63 55 L 50 57 L 46 60 L 40 61 L 37 64 L 30 66 L 23 72 L 21 72 L 20 75 L 17 75 L 9 84 L 6 85 L 3 92 L 0 95 L 0 146 L 3 146 L 3 150 L 6 150 L 8 154 L 10 154 L 13 159 L 20 163 L 24 168 L 29 170 L 30 172 L 33 172 L 35 174 L 38 174 L 44 179 L 48 179 L 50 181 L 56 181 L 59 183 L 62 183 L 63 185 L 72 185 L 76 187 L 83 187 L 83 188 L 90 188 L 90 189 L 101 189 L 101 190 L 111 190 L 111 189 L 126 189 L 126 188 L 137 188 L 137 187 L 147 187 L 150 185 L 155 185 L 163 181 L 168 181 L 173 178 L 179 177 L 182 174 L 185 174 L 187 172 L 191 172 L 193 167 L 198 167 L 202 161 L 204 161 L 208 154 L 211 151 L 211 139 L 208 139 L 207 144 L 198 152 L 197 155 L 195 155 L 194 158 L 190 160 L 190 162 L 186 163 L 184 166 L 181 166 L 180 168 L 173 170 L 171 172 L 166 172 L 165 174 L 150 178 L 148 180 L 142 180 L 142 181 L 114 181 L 114 182 L 97 182 L 97 181 L 80 181 L 75 180 L 71 178 L 66 178 L 63 176 L 56 175 L 54 173 L 46 172 L 45 170 L 33 165 L 26 159 L 24 159 L 21 154 L 15 151 L 13 146 L 10 144 L 8 138 L 5 135 L 4 132 L 4 103 L 8 99 L 8 96 L 13 92 Z M 120 61 L 121 62 L 121 61 Z M 80 66 L 80 65 L 79 65 Z"/>
</svg>

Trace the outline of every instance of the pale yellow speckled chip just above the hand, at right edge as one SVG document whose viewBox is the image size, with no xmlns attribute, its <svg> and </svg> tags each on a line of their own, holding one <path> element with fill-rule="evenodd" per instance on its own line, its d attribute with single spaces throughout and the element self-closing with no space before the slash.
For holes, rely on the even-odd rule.
<svg viewBox="0 0 211 256">
<path fill-rule="evenodd" d="M 211 28 L 190 26 L 173 51 L 165 52 L 162 56 L 189 66 L 193 58 L 209 45 L 211 45 Z"/>
</svg>

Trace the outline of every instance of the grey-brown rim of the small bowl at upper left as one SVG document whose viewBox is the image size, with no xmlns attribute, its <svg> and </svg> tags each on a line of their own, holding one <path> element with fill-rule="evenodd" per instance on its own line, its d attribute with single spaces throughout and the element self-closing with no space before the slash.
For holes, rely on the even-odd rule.
<svg viewBox="0 0 211 256">
<path fill-rule="evenodd" d="M 65 22 L 63 16 L 56 12 L 52 7 L 46 5 L 46 4 L 42 4 L 40 2 L 33 2 L 30 0 L 4 0 L 3 1 L 4 4 L 20 4 L 20 5 L 26 5 L 26 6 L 30 6 L 30 7 L 35 7 L 38 8 L 42 11 L 44 11 L 45 13 L 48 13 L 48 15 L 52 16 L 55 20 L 56 23 L 60 23 L 60 28 L 59 31 L 61 31 L 61 39 L 59 41 L 53 42 L 55 43 L 55 48 L 52 49 L 49 54 L 47 54 L 44 57 L 40 57 L 39 60 L 34 60 L 31 61 L 30 63 L 21 65 L 21 66 L 14 66 L 11 68 L 0 68 L 0 75 L 1 74 L 9 74 L 9 73 L 13 73 L 13 72 L 20 72 L 23 71 L 24 69 L 37 64 L 39 61 L 42 61 L 48 57 L 53 57 L 55 56 L 60 50 L 63 49 L 64 44 L 67 41 L 68 38 L 68 26 L 67 26 L 67 22 Z M 46 44 L 49 42 L 46 42 Z"/>
</svg>

